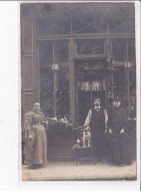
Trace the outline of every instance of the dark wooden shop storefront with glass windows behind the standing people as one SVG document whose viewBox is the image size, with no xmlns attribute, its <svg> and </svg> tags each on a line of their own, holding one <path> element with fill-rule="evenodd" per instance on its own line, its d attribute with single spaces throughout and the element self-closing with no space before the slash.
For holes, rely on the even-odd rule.
<svg viewBox="0 0 141 194">
<path fill-rule="evenodd" d="M 120 96 L 132 117 L 134 4 L 103 4 L 21 5 L 22 126 L 40 102 L 45 116 L 66 117 L 74 129 L 84 124 L 94 96 L 107 111 Z M 73 129 L 48 132 L 49 156 L 71 158 Z"/>
</svg>

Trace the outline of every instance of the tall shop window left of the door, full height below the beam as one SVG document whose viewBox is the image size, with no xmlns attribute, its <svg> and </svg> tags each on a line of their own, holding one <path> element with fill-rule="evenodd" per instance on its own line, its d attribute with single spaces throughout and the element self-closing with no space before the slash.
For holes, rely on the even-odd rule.
<svg viewBox="0 0 141 194">
<path fill-rule="evenodd" d="M 68 40 L 40 41 L 39 65 L 42 111 L 69 119 Z"/>
</svg>

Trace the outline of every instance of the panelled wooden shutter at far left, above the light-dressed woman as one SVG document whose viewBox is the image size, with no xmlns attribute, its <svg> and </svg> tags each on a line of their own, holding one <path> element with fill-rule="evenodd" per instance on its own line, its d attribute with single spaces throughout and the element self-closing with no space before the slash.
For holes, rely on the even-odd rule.
<svg viewBox="0 0 141 194">
<path fill-rule="evenodd" d="M 33 7 L 21 5 L 21 122 L 25 113 L 31 111 L 38 95 L 36 27 Z"/>
</svg>

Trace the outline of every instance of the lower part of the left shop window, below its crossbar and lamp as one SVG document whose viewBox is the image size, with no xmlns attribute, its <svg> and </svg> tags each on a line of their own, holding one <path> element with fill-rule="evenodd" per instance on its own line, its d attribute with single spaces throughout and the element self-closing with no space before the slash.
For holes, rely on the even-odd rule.
<svg viewBox="0 0 141 194">
<path fill-rule="evenodd" d="M 68 68 L 41 68 L 40 101 L 42 111 L 48 117 L 69 119 L 69 77 Z"/>
</svg>

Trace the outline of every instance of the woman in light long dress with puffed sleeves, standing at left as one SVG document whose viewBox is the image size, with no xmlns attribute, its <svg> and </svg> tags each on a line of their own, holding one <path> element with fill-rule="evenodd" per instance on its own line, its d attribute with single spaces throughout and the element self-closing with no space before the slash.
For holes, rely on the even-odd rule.
<svg viewBox="0 0 141 194">
<path fill-rule="evenodd" d="M 34 168 L 47 164 L 47 135 L 44 124 L 47 119 L 40 111 L 40 104 L 35 103 L 33 111 L 26 113 L 24 128 L 27 131 L 25 144 L 25 162 Z"/>
</svg>

